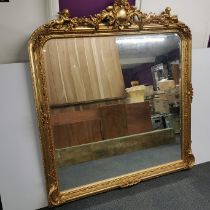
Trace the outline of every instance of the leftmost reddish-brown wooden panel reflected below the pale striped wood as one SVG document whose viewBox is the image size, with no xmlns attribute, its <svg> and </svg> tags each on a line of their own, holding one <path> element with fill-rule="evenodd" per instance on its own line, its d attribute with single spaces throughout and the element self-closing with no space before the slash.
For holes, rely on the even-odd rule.
<svg viewBox="0 0 210 210">
<path fill-rule="evenodd" d="M 51 116 L 56 148 L 102 140 L 98 109 L 64 111 Z"/>
</svg>

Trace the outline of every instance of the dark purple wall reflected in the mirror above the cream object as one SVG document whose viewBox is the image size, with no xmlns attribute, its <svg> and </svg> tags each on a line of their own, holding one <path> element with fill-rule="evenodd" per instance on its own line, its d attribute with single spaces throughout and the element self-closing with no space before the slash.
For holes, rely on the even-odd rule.
<svg viewBox="0 0 210 210">
<path fill-rule="evenodd" d="M 125 87 L 131 87 L 131 81 L 139 81 L 140 85 L 153 85 L 151 67 L 154 63 L 144 63 L 134 68 L 123 69 Z"/>
</svg>

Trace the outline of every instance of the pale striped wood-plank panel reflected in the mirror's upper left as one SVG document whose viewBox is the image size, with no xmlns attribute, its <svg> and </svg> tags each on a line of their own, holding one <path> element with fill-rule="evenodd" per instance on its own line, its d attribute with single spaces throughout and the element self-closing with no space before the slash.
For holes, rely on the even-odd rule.
<svg viewBox="0 0 210 210">
<path fill-rule="evenodd" d="M 115 37 L 52 39 L 44 60 L 51 105 L 124 94 Z"/>
</svg>

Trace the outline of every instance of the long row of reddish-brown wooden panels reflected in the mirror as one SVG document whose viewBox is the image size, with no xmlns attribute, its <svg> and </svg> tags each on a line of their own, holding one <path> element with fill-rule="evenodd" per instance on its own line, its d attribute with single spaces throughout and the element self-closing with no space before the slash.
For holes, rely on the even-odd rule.
<svg viewBox="0 0 210 210">
<path fill-rule="evenodd" d="M 74 112 L 62 110 L 51 116 L 56 148 L 152 130 L 148 102 L 117 104 Z"/>
</svg>

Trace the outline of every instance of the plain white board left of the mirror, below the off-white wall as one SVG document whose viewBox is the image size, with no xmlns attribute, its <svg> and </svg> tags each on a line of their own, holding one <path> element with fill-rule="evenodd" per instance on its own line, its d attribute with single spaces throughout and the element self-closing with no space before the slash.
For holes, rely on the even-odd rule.
<svg viewBox="0 0 210 210">
<path fill-rule="evenodd" d="M 0 194 L 4 210 L 47 206 L 29 67 L 0 65 Z"/>
</svg>

